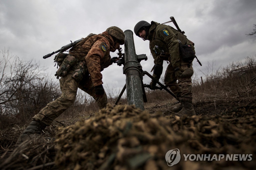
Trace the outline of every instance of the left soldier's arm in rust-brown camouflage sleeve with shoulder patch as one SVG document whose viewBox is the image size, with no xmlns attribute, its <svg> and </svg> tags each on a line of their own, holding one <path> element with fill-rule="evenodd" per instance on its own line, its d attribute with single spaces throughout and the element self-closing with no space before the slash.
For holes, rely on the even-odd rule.
<svg viewBox="0 0 256 170">
<path fill-rule="evenodd" d="M 94 87 L 103 84 L 102 74 L 100 72 L 100 60 L 104 57 L 107 51 L 109 51 L 109 43 L 107 41 L 96 41 L 85 57 Z"/>
</svg>

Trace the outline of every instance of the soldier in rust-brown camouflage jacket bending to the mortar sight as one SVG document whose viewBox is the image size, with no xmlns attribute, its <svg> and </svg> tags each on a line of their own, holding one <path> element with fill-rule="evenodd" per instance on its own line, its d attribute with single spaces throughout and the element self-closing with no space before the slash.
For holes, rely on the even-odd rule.
<svg viewBox="0 0 256 170">
<path fill-rule="evenodd" d="M 72 47 L 63 62 L 59 63 L 60 68 L 56 72 L 57 78 L 61 77 L 60 97 L 48 103 L 32 118 L 33 121 L 23 131 L 17 144 L 40 136 L 46 126 L 50 126 L 55 118 L 74 103 L 78 88 L 91 95 L 99 108 L 105 107 L 108 100 L 102 86 L 101 71 L 118 59 L 111 58 L 110 51 L 115 52 L 123 44 L 124 33 L 114 26 L 98 35 L 89 34 Z"/>
</svg>

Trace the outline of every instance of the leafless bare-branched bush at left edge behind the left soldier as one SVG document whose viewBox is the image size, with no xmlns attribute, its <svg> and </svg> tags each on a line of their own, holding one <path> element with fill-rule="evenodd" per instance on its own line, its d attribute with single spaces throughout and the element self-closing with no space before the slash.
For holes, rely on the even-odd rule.
<svg viewBox="0 0 256 170">
<path fill-rule="evenodd" d="M 0 54 L 0 116 L 24 123 L 60 95 L 58 83 L 42 74 L 39 63 L 20 60 L 9 50 Z"/>
</svg>

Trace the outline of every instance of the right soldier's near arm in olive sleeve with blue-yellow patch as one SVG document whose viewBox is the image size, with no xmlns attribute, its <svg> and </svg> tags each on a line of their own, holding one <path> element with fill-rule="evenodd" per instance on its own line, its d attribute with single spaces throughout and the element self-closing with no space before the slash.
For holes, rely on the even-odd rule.
<svg viewBox="0 0 256 170">
<path fill-rule="evenodd" d="M 166 25 L 159 25 L 157 27 L 157 34 L 167 44 L 172 66 L 178 67 L 181 63 L 179 56 L 179 41 L 172 29 Z"/>
</svg>

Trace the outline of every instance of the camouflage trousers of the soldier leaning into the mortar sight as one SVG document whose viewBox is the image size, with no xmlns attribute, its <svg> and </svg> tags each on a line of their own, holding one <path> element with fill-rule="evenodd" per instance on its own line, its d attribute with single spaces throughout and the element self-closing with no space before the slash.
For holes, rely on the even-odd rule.
<svg viewBox="0 0 256 170">
<path fill-rule="evenodd" d="M 74 103 L 78 88 L 91 95 L 95 99 L 99 108 L 105 107 L 108 103 L 106 93 L 104 93 L 102 96 L 95 95 L 95 90 L 89 75 L 85 76 L 85 78 L 83 78 L 80 82 L 77 82 L 72 78 L 72 74 L 68 74 L 67 76 L 59 79 L 59 82 L 61 90 L 60 97 L 48 103 L 46 107 L 42 108 L 42 110 L 32 119 L 41 121 L 47 126 L 50 126 L 53 119 L 61 115 Z"/>
</svg>

